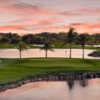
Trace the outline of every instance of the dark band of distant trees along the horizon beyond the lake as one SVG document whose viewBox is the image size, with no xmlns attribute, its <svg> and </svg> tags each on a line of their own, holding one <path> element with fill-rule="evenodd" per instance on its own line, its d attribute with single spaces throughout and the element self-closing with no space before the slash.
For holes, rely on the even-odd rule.
<svg viewBox="0 0 100 100">
<path fill-rule="evenodd" d="M 70 34 L 72 32 L 72 34 Z M 68 34 L 69 33 L 69 34 Z M 99 44 L 100 43 L 100 34 L 88 34 L 88 33 L 77 33 L 74 32 L 74 29 L 71 28 L 69 32 L 60 32 L 56 33 L 49 33 L 43 32 L 38 34 L 26 34 L 23 36 L 18 35 L 17 33 L 0 33 L 0 43 L 9 43 L 9 44 L 17 44 L 20 40 L 25 42 L 26 44 L 43 44 L 44 39 L 48 39 L 52 43 L 64 43 L 72 42 L 72 44 L 80 44 L 80 37 L 84 36 L 88 38 L 86 41 L 87 45 L 92 44 Z M 73 40 L 73 39 L 74 40 Z M 71 41 L 73 40 L 73 41 Z"/>
</svg>

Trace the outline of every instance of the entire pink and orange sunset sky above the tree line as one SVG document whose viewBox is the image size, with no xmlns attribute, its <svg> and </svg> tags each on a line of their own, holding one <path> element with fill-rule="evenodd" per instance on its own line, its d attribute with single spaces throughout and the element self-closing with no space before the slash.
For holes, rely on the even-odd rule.
<svg viewBox="0 0 100 100">
<path fill-rule="evenodd" d="M 100 0 L 0 0 L 0 32 L 100 33 Z"/>
</svg>

